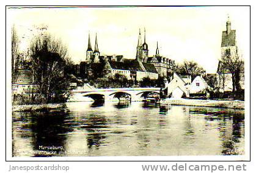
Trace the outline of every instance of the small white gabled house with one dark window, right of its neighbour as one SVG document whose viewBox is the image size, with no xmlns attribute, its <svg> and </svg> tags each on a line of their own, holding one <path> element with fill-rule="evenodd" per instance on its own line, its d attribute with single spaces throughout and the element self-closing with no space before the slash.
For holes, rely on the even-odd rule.
<svg viewBox="0 0 256 173">
<path fill-rule="evenodd" d="M 197 76 L 191 83 L 189 87 L 189 93 L 197 94 L 197 93 L 205 93 L 208 85 L 205 79 L 202 76 Z"/>
</svg>

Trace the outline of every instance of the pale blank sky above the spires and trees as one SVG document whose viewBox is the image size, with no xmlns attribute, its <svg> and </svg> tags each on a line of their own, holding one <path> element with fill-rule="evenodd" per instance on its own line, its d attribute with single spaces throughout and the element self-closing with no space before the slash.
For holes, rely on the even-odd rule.
<svg viewBox="0 0 256 173">
<path fill-rule="evenodd" d="M 101 55 L 136 57 L 136 46 L 144 28 L 149 55 L 159 53 L 181 63 L 194 60 L 207 73 L 215 73 L 221 57 L 221 34 L 227 16 L 236 30 L 236 41 L 244 60 L 250 52 L 249 7 L 79 7 L 51 9 L 7 9 L 7 27 L 13 24 L 20 37 L 20 49 L 27 49 L 36 26 L 60 38 L 71 60 L 84 61 L 88 34 L 94 48 L 97 33 Z M 142 41 L 143 42 L 143 41 Z"/>
</svg>

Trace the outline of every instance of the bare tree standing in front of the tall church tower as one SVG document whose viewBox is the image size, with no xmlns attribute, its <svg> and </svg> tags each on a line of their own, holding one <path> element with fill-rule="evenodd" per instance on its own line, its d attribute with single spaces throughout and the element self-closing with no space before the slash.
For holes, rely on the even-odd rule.
<svg viewBox="0 0 256 173">
<path fill-rule="evenodd" d="M 236 51 L 235 56 L 230 54 L 230 51 L 226 51 L 225 55 L 220 60 L 221 72 L 229 72 L 232 75 L 232 93 L 233 97 L 236 96 L 236 91 L 240 89 L 240 72 L 244 65 L 243 60 L 241 60 L 238 52 Z"/>
</svg>

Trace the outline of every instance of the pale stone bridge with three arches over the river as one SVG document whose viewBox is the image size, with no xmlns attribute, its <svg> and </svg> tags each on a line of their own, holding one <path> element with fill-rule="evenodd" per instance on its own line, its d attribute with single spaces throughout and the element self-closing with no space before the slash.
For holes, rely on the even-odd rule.
<svg viewBox="0 0 256 173">
<path fill-rule="evenodd" d="M 130 101 L 141 101 L 141 99 L 159 97 L 160 88 L 86 88 L 72 90 L 76 96 L 90 97 L 94 101 L 108 100 L 117 98 Z"/>
</svg>

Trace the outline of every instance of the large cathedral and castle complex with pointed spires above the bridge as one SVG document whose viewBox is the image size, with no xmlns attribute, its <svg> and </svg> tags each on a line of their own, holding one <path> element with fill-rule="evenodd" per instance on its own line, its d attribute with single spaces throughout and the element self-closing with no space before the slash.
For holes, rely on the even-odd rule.
<svg viewBox="0 0 256 173">
<path fill-rule="evenodd" d="M 89 34 L 86 60 L 80 63 L 80 74 L 84 74 L 84 77 L 91 76 L 92 66 L 100 64 L 100 62 L 104 62 L 103 77 L 114 77 L 115 74 L 119 73 L 128 80 L 136 81 L 141 81 L 144 77 L 150 79 L 158 79 L 159 76 L 167 77 L 171 72 L 171 66 L 174 65 L 174 60 L 169 60 L 159 54 L 158 42 L 156 43 L 156 54 L 152 57 L 148 56 L 145 29 L 143 44 L 141 30 L 139 30 L 135 59 L 124 58 L 123 55 L 100 55 L 97 35 L 95 36 L 93 51 Z"/>
</svg>

